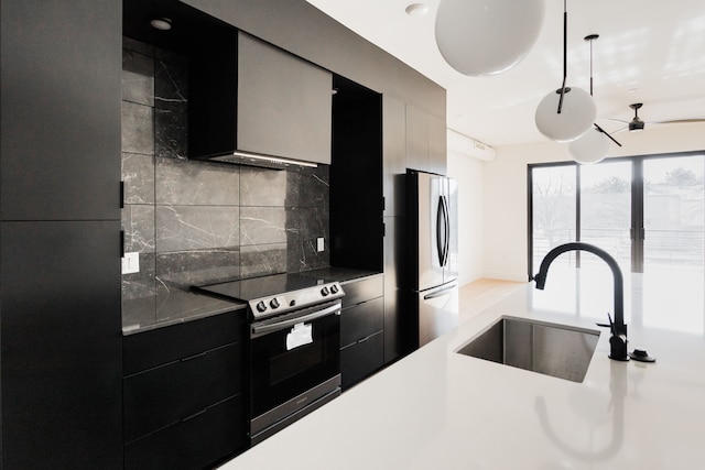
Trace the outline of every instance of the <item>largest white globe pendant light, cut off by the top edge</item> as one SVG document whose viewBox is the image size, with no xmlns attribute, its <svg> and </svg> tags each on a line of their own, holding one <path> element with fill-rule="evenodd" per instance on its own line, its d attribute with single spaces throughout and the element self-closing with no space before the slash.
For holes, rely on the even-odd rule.
<svg viewBox="0 0 705 470">
<path fill-rule="evenodd" d="M 462 74 L 500 74 L 529 54 L 543 13 L 544 0 L 441 0 L 436 43 Z"/>
</svg>

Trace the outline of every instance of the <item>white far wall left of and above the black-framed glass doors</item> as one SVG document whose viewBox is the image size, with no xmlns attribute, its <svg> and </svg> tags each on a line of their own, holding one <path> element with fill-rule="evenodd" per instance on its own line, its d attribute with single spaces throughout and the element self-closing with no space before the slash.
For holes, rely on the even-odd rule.
<svg viewBox="0 0 705 470">
<path fill-rule="evenodd" d="M 705 124 L 671 124 L 649 125 L 643 132 L 622 132 L 616 135 L 622 146 L 612 145 L 610 156 L 649 155 L 659 153 L 702 151 L 705 150 Z M 468 247 L 462 239 L 462 248 L 471 253 L 464 253 L 462 263 L 466 260 L 482 261 L 480 274 L 473 267 L 471 276 L 491 277 L 509 281 L 527 281 L 528 270 L 528 197 L 527 197 L 527 165 L 529 163 L 570 161 L 572 160 L 567 144 L 546 141 L 545 143 L 514 145 L 499 147 L 497 157 L 491 162 L 479 162 L 480 170 L 474 165 L 468 168 L 459 168 L 459 164 L 448 159 L 448 174 L 455 176 L 458 172 L 467 174 L 464 178 L 474 181 L 477 172 L 481 175 L 482 204 L 478 210 L 463 212 L 460 227 L 477 223 L 476 217 L 481 217 L 482 232 L 478 237 L 481 240 L 481 250 L 476 252 L 476 247 Z M 456 166 L 457 165 L 457 166 Z M 460 179 L 458 177 L 458 179 Z M 476 183 L 465 183 L 465 186 Z M 475 189 L 470 189 L 468 197 L 478 197 Z M 471 203 L 465 201 L 464 205 Z M 460 206 L 463 208 L 463 205 Z M 473 218 L 473 220 L 464 220 Z M 469 262 L 469 261 L 467 261 Z M 462 265 L 460 271 L 469 267 Z"/>
</svg>

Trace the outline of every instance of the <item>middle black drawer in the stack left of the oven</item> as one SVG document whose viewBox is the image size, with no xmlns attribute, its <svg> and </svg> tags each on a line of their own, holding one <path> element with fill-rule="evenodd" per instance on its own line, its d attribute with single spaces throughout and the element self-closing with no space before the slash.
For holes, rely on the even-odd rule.
<svg viewBox="0 0 705 470">
<path fill-rule="evenodd" d="M 241 393 L 242 349 L 242 342 L 235 342 L 124 378 L 124 441 Z"/>
</svg>

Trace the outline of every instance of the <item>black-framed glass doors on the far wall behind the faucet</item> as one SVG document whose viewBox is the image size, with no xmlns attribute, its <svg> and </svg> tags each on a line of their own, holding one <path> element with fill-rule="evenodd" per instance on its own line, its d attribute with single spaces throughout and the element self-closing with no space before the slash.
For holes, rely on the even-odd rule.
<svg viewBox="0 0 705 470">
<path fill-rule="evenodd" d="M 696 153 L 530 165 L 530 275 L 568 241 L 605 249 L 627 272 L 702 270 L 704 160 Z"/>
</svg>

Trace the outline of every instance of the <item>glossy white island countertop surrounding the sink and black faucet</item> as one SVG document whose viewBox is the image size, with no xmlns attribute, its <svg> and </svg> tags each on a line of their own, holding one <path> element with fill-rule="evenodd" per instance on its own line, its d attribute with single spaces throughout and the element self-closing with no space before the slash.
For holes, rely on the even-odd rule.
<svg viewBox="0 0 705 470">
<path fill-rule="evenodd" d="M 223 469 L 705 468 L 702 281 L 699 304 L 671 304 L 660 320 L 643 307 L 658 283 L 627 283 L 629 350 L 655 363 L 608 359 L 607 330 L 583 383 L 454 352 L 502 315 L 600 330 L 607 310 L 579 314 L 596 296 L 551 273 L 545 291 L 527 284 Z M 666 306 L 669 296 L 679 300 L 658 294 Z M 601 297 L 611 305 L 609 275 Z"/>
</svg>

